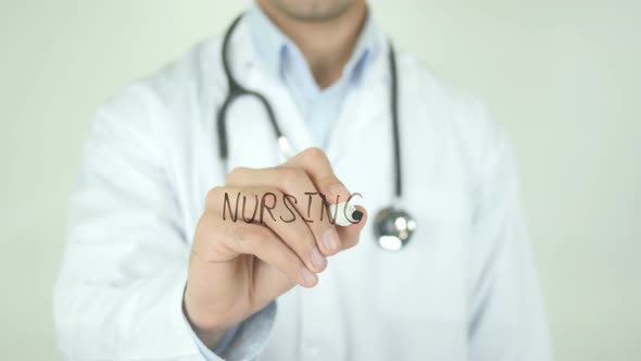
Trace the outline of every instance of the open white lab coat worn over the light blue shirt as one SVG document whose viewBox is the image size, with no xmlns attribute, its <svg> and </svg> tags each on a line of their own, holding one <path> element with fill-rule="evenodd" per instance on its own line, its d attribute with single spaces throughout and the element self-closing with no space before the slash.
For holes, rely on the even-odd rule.
<svg viewBox="0 0 641 361">
<path fill-rule="evenodd" d="M 504 134 L 486 108 L 399 55 L 404 207 L 411 244 L 382 251 L 374 214 L 391 203 L 387 41 L 351 91 L 326 151 L 363 195 L 360 244 L 329 259 L 313 289 L 277 300 L 263 360 L 550 360 L 548 334 Z M 181 312 L 196 224 L 224 183 L 215 111 L 226 95 L 221 39 L 205 41 L 114 97 L 97 115 L 71 199 L 55 288 L 70 360 L 203 360 Z M 241 23 L 231 42 L 241 84 L 272 102 L 293 147 L 312 144 L 287 89 L 263 72 Z M 228 115 L 229 169 L 282 159 L 261 105 Z M 256 346 L 257 345 L 257 346 Z M 232 346 L 234 347 L 234 346 Z"/>
</svg>

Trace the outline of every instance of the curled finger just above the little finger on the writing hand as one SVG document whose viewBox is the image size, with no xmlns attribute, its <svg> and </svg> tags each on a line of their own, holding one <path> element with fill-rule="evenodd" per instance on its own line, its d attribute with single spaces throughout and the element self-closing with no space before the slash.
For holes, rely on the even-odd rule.
<svg viewBox="0 0 641 361">
<path fill-rule="evenodd" d="M 223 220 L 262 223 L 278 235 L 311 271 L 322 272 L 327 266 L 327 259 L 318 250 L 310 227 L 296 214 L 296 209 L 286 203 L 279 189 L 225 187 L 215 192 L 212 199 L 214 204 L 224 204 L 218 210 L 223 212 Z"/>
</svg>

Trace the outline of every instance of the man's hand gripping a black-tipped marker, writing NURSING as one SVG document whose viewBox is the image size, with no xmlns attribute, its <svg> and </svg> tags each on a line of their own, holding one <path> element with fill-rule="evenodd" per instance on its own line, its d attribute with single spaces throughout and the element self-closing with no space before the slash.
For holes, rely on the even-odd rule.
<svg viewBox="0 0 641 361">
<path fill-rule="evenodd" d="M 237 192 L 257 198 L 266 192 L 278 198 L 316 192 L 328 202 L 351 196 L 317 148 L 277 167 L 235 169 L 224 186 L 210 190 L 196 229 L 184 296 L 185 314 L 210 348 L 230 327 L 294 285 L 314 287 L 327 257 L 355 246 L 367 221 L 365 209 L 349 201 L 329 206 L 335 224 L 329 216 L 320 216 L 320 208 L 312 212 L 314 222 L 297 217 L 285 223 L 269 216 L 264 224 L 224 221 L 225 195 Z M 254 197 L 247 199 L 254 201 Z M 302 202 L 293 207 L 300 214 L 310 212 Z M 274 211 L 284 214 L 285 204 L 275 204 Z"/>
</svg>

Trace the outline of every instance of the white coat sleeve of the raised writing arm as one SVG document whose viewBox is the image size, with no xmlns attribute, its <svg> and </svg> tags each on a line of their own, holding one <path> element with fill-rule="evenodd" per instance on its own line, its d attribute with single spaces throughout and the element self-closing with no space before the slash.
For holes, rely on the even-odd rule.
<svg viewBox="0 0 641 361">
<path fill-rule="evenodd" d="M 153 124 L 162 109 L 149 87 L 136 85 L 92 125 L 54 290 L 65 359 L 205 360 L 183 313 L 191 244 Z M 224 353 L 257 358 L 274 312 L 267 307 L 241 323 Z"/>
</svg>

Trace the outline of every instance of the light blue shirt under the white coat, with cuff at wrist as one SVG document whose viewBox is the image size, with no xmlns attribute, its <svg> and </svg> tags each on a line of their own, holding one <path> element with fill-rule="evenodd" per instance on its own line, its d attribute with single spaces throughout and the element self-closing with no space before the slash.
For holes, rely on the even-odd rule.
<svg viewBox="0 0 641 361">
<path fill-rule="evenodd" d="M 253 45 L 259 54 L 261 66 L 286 85 L 305 119 L 315 146 L 325 148 L 334 121 L 339 115 L 342 100 L 345 99 L 348 91 L 361 80 L 370 59 L 378 51 L 378 34 L 372 16 L 367 15 L 354 51 L 342 70 L 340 78 L 325 89 L 316 84 L 305 58 L 296 43 L 272 23 L 257 4 L 254 3 L 246 16 L 250 24 Z M 265 323 L 260 322 L 260 319 L 267 318 L 269 314 L 273 316 L 274 312 L 275 307 L 272 302 L 269 307 L 254 314 L 251 319 L 259 319 L 259 323 L 264 325 Z M 227 353 L 230 351 L 229 347 L 235 347 L 234 338 L 243 324 L 229 331 L 213 351 L 209 350 L 196 334 L 193 334 L 193 338 L 206 360 L 216 360 L 216 356 Z M 249 324 L 247 326 L 252 327 Z"/>
</svg>

